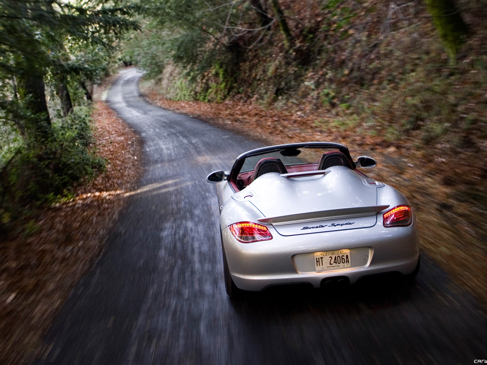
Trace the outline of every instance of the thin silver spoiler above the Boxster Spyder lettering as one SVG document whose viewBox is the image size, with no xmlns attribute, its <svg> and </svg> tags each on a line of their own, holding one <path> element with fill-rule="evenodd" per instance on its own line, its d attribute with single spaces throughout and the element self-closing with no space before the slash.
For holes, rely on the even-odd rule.
<svg viewBox="0 0 487 365">
<path fill-rule="evenodd" d="M 280 216 L 280 217 L 261 218 L 257 220 L 261 223 L 280 225 L 280 224 L 309 222 L 314 220 L 323 220 L 323 219 L 332 219 L 332 218 L 371 216 L 387 208 L 389 208 L 389 205 L 358 206 L 358 207 L 350 207 L 350 208 L 320 210 L 318 212 L 290 214 L 287 216 Z"/>
</svg>

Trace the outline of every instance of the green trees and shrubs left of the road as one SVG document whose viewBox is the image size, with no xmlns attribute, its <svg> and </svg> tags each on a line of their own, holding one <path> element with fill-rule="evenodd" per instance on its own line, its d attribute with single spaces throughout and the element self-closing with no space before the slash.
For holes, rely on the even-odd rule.
<svg viewBox="0 0 487 365">
<path fill-rule="evenodd" d="M 0 232 L 69 197 L 104 169 L 90 125 L 93 85 L 117 41 L 138 29 L 133 5 L 0 0 Z"/>
</svg>

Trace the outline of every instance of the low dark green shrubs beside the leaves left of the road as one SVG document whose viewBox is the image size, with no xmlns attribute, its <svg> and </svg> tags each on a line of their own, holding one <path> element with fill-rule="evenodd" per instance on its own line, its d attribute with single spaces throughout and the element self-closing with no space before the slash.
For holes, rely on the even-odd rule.
<svg viewBox="0 0 487 365">
<path fill-rule="evenodd" d="M 19 218 L 32 202 L 53 203 L 69 193 L 73 183 L 89 180 L 105 162 L 90 150 L 93 142 L 90 109 L 75 108 L 53 124 L 47 144 L 18 146 L 0 170 L 0 212 L 5 224 Z"/>
</svg>

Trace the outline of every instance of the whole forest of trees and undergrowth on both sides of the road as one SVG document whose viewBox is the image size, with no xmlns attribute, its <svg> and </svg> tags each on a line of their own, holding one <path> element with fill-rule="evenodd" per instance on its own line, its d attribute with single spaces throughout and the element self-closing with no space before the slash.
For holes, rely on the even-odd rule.
<svg viewBox="0 0 487 365">
<path fill-rule="evenodd" d="M 91 94 L 120 64 L 167 100 L 322 110 L 385 144 L 451 151 L 486 137 L 483 1 L 2 0 L 0 11 L 2 230 L 103 171 Z"/>
</svg>

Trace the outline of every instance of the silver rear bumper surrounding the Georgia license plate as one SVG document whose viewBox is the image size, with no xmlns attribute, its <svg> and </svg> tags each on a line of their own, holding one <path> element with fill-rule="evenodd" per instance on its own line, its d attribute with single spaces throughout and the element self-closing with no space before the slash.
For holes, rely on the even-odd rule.
<svg viewBox="0 0 487 365">
<path fill-rule="evenodd" d="M 347 276 L 350 283 L 360 277 L 386 272 L 411 274 L 419 258 L 415 222 L 408 227 L 374 227 L 281 236 L 269 227 L 273 239 L 240 243 L 226 227 L 222 231 L 228 268 L 240 289 L 261 291 L 269 285 L 311 283 L 319 288 L 327 277 Z M 350 249 L 352 267 L 315 272 L 313 253 Z M 309 260 L 309 261 L 308 261 Z"/>
</svg>

